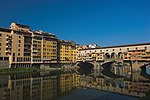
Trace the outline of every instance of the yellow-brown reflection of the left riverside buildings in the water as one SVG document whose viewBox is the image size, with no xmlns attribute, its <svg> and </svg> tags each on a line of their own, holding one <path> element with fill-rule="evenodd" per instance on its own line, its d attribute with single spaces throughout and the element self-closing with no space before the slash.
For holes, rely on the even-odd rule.
<svg viewBox="0 0 150 100">
<path fill-rule="evenodd" d="M 78 86 L 71 71 L 6 75 L 0 80 L 0 100 L 55 100 Z"/>
</svg>

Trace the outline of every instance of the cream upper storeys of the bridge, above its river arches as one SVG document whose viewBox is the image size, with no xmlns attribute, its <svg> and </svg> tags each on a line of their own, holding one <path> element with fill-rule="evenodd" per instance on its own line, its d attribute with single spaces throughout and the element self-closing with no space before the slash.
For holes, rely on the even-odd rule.
<svg viewBox="0 0 150 100">
<path fill-rule="evenodd" d="M 131 53 L 134 53 L 135 56 L 131 56 Z M 107 59 L 131 60 L 131 57 L 134 59 L 140 57 L 136 60 L 150 61 L 150 43 L 80 49 L 78 55 L 78 61 L 92 61 L 93 58 L 97 61 Z"/>
</svg>

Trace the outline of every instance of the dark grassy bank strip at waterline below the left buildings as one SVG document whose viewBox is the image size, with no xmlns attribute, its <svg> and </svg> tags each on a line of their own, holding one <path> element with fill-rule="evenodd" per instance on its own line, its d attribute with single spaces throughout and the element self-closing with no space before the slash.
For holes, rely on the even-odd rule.
<svg viewBox="0 0 150 100">
<path fill-rule="evenodd" d="M 0 74 L 36 73 L 40 71 L 40 68 L 5 68 L 0 69 Z"/>
</svg>

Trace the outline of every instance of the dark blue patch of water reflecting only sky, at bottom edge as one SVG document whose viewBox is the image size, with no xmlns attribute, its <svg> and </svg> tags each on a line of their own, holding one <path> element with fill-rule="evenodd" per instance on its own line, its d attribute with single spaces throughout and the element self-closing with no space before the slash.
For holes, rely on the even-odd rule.
<svg viewBox="0 0 150 100">
<path fill-rule="evenodd" d="M 62 96 L 58 100 L 139 100 L 139 98 L 99 91 L 95 89 L 78 88 L 71 94 Z"/>
</svg>

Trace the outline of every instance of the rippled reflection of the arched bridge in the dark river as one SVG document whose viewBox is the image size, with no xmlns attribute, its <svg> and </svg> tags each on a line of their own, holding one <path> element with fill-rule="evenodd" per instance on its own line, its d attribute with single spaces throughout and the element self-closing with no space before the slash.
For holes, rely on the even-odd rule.
<svg viewBox="0 0 150 100">
<path fill-rule="evenodd" d="M 150 90 L 150 78 L 143 77 L 141 72 L 135 71 L 133 77 L 108 77 L 95 70 L 91 75 L 80 75 L 79 83 L 82 87 L 95 88 L 103 91 L 143 97 Z"/>
</svg>

